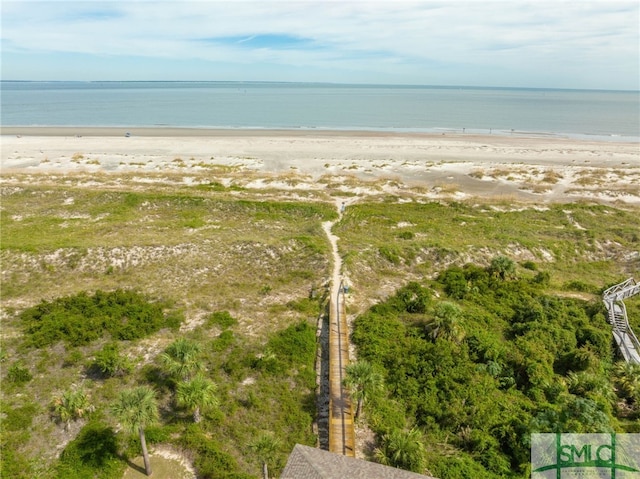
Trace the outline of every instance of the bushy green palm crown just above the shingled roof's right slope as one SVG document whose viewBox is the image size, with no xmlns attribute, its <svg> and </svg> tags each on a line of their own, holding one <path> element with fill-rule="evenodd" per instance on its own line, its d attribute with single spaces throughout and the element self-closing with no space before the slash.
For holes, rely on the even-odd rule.
<svg viewBox="0 0 640 479">
<path fill-rule="evenodd" d="M 394 429 L 382 438 L 376 458 L 387 466 L 423 473 L 427 464 L 422 434 L 417 428 Z"/>
</svg>

